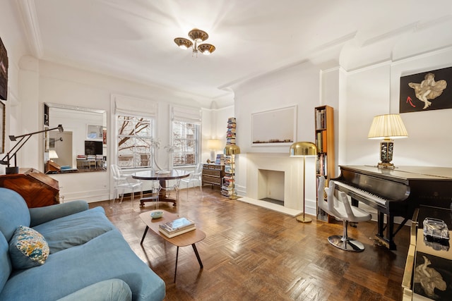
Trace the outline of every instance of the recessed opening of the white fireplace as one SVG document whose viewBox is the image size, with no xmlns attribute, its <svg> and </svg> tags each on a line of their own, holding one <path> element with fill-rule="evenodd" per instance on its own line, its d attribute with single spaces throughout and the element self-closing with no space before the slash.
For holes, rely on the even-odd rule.
<svg viewBox="0 0 452 301">
<path fill-rule="evenodd" d="M 284 171 L 258 169 L 258 199 L 284 206 Z"/>
</svg>

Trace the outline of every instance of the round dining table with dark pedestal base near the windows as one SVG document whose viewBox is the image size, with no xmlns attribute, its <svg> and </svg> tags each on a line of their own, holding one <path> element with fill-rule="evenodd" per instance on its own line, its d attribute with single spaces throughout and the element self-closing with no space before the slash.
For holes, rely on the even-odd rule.
<svg viewBox="0 0 452 301">
<path fill-rule="evenodd" d="M 177 180 L 177 184 L 173 187 L 175 190 L 178 190 L 179 180 L 190 176 L 190 172 L 182 169 L 172 169 L 171 171 L 156 171 L 154 169 L 149 169 L 146 171 L 136 171 L 135 173 L 132 173 L 131 176 L 137 180 L 158 180 L 161 188 L 158 195 L 158 201 L 172 202 L 173 206 L 176 206 L 177 201 L 179 201 L 179 197 L 172 199 L 167 196 L 166 192 L 171 189 L 171 186 L 167 186 L 167 181 Z M 177 192 L 177 195 L 179 195 L 179 192 Z M 156 201 L 155 197 L 144 197 L 143 199 L 140 199 L 140 204 L 143 206 L 144 202 L 150 201 Z"/>
</svg>

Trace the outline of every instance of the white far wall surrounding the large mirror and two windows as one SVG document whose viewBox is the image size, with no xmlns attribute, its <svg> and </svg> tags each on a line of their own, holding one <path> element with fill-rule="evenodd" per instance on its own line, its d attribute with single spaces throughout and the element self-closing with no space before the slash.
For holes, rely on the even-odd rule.
<svg viewBox="0 0 452 301">
<path fill-rule="evenodd" d="M 167 145 L 169 144 L 169 106 L 176 104 L 201 109 L 200 102 L 190 95 L 174 94 L 159 87 L 140 85 L 76 68 L 61 66 L 57 63 L 39 61 L 30 56 L 24 57 L 23 61 L 27 61 L 23 65 L 28 67 L 20 70 L 24 74 L 23 82 L 21 82 L 23 89 L 28 94 L 31 94 L 31 92 L 37 94 L 35 103 L 30 105 L 32 109 L 22 110 L 27 116 L 22 126 L 24 129 L 29 128 L 34 131 L 42 128 L 44 102 L 82 106 L 89 109 L 103 109 L 107 111 L 107 147 L 112 149 L 114 147 L 112 145 L 112 135 L 114 133 L 109 127 L 112 116 L 111 98 L 112 94 L 121 94 L 158 103 L 157 137 L 160 138 L 162 145 Z M 33 66 L 33 68 L 30 66 Z M 201 98 L 200 100 L 205 101 L 206 99 Z M 203 129 L 209 130 L 211 118 L 208 118 L 209 113 L 203 115 L 206 117 Z M 25 160 L 24 156 L 18 156 L 19 166 L 32 166 L 42 171 L 42 158 L 44 156 L 42 140 L 38 139 L 34 142 L 28 142 L 24 147 L 23 154 L 28 152 L 32 153 L 33 159 L 28 158 Z M 160 152 L 164 152 L 164 150 L 160 149 Z M 112 152 L 109 152 L 109 156 L 111 154 Z M 159 153 L 157 158 L 159 159 L 159 164 L 164 164 L 166 154 Z M 203 149 L 203 161 L 206 161 L 207 158 L 208 151 Z M 108 161 L 110 159 L 107 157 Z M 112 179 L 109 173 L 67 173 L 52 175 L 52 177 L 59 181 L 60 196 L 64 196 L 65 201 L 71 199 L 97 201 L 112 197 Z"/>
</svg>

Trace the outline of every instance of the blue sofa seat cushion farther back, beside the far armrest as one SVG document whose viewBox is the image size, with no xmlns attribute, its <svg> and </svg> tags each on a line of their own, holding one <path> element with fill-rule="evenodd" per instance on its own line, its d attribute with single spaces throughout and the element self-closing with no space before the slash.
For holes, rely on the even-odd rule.
<svg viewBox="0 0 452 301">
<path fill-rule="evenodd" d="M 95 207 L 33 228 L 47 240 L 50 254 L 52 254 L 69 247 L 83 245 L 102 233 L 112 230 L 114 226 L 105 216 L 104 209 Z"/>
</svg>

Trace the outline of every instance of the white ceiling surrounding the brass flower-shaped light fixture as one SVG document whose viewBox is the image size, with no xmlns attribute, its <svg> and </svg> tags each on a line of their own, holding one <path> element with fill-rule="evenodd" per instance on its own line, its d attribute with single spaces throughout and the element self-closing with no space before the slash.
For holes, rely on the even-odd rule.
<svg viewBox="0 0 452 301">
<path fill-rule="evenodd" d="M 20 0 L 18 7 L 40 59 L 211 99 L 321 49 L 451 13 L 448 0 Z M 192 57 L 174 44 L 194 27 L 208 32 L 212 55 Z"/>
</svg>

